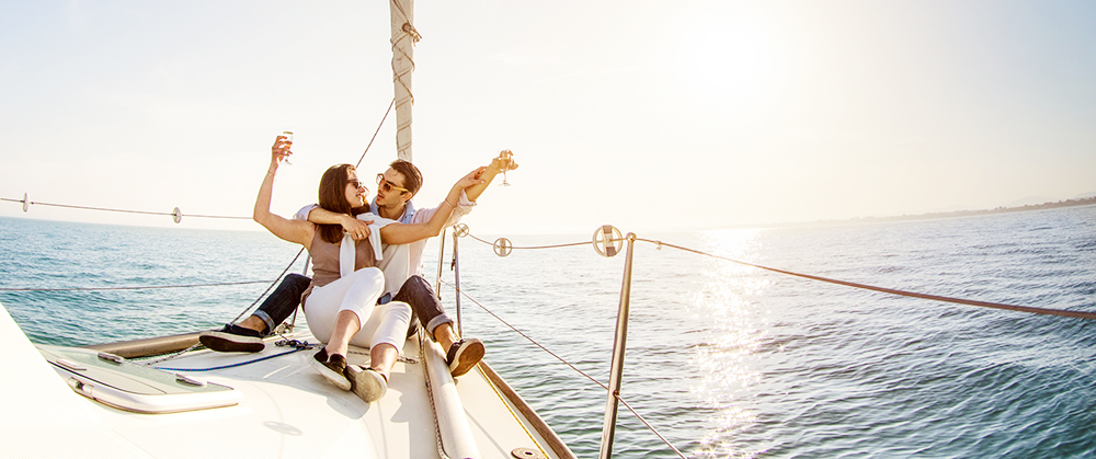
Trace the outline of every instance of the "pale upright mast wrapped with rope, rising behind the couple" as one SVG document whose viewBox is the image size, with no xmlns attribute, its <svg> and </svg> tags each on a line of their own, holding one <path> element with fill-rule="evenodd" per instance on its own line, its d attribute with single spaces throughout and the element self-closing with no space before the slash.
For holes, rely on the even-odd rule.
<svg viewBox="0 0 1096 459">
<path fill-rule="evenodd" d="M 396 154 L 411 161 L 411 73 L 414 72 L 414 0 L 390 0 L 392 14 L 392 82 L 396 85 Z"/>
</svg>

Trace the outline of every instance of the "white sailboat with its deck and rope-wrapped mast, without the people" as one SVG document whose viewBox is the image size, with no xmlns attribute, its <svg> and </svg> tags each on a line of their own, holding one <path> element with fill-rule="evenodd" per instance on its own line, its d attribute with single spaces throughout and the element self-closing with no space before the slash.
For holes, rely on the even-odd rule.
<svg viewBox="0 0 1096 459">
<path fill-rule="evenodd" d="M 406 160 L 418 39 L 411 3 L 391 1 L 397 149 Z M 488 363 L 454 380 L 441 347 L 421 333 L 372 404 L 309 367 L 317 340 L 301 324 L 247 355 L 196 347 L 197 333 L 35 345 L 5 309 L 0 336 L 11 343 L 0 382 L 4 457 L 574 457 Z M 368 358 L 354 347 L 347 356 L 356 365 Z"/>
</svg>

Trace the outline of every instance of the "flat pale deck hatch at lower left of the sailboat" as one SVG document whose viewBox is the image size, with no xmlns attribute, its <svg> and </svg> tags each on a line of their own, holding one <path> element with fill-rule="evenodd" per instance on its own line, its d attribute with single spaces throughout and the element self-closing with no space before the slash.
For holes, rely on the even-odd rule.
<svg viewBox="0 0 1096 459">
<path fill-rule="evenodd" d="M 243 399 L 228 386 L 137 365 L 112 354 L 37 347 L 76 393 L 119 410 L 176 413 L 230 406 Z"/>
</svg>

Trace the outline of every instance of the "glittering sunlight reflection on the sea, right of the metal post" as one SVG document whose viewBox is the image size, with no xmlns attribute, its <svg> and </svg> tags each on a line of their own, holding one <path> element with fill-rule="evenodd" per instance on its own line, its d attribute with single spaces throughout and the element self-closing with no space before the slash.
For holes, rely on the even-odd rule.
<svg viewBox="0 0 1096 459">
<path fill-rule="evenodd" d="M 764 230 L 720 230 L 704 233 L 703 250 L 735 260 L 751 261 L 764 248 Z M 756 413 L 750 400 L 738 395 L 761 382 L 754 365 L 767 335 L 768 318 L 763 296 L 769 282 L 756 269 L 731 262 L 708 259 L 701 266 L 703 287 L 690 301 L 692 312 L 710 324 L 705 343 L 696 347 L 689 362 L 704 375 L 692 388 L 701 403 L 713 410 L 713 428 L 699 441 L 695 457 L 751 458 L 761 451 L 743 451 L 735 445 L 738 434 L 754 425 Z"/>
</svg>

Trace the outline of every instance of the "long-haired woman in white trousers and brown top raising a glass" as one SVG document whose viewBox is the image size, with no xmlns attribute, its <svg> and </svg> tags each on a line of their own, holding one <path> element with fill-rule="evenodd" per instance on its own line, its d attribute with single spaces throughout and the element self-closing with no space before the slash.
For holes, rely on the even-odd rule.
<svg viewBox="0 0 1096 459">
<path fill-rule="evenodd" d="M 338 225 L 289 220 L 270 211 L 274 175 L 281 161 L 289 154 L 289 142 L 278 136 L 271 148 L 271 163 L 259 190 L 253 218 L 274 236 L 304 245 L 312 257 L 313 277 L 305 294 L 305 318 L 312 334 L 327 343 L 316 354 L 313 366 L 333 385 L 353 390 L 366 402 L 379 400 L 388 389 L 388 375 L 406 340 L 411 308 L 402 301 L 377 306 L 377 299 L 385 291 L 385 277 L 374 266 L 374 249 L 368 240 L 357 242 L 354 250 L 350 250 L 342 245 L 354 241 L 344 239 Z M 446 204 L 455 203 L 461 190 L 482 183 L 476 179 L 476 172 L 453 186 Z M 334 165 L 320 179 L 319 204 L 330 211 L 353 215 L 357 209 L 368 208 L 367 192 L 354 167 Z M 404 238 L 437 236 L 452 211 L 452 205 L 443 206 L 425 223 L 392 223 L 383 231 Z M 346 366 L 351 343 L 370 348 L 369 368 L 359 370 Z"/>
</svg>

